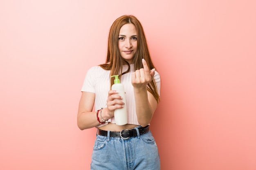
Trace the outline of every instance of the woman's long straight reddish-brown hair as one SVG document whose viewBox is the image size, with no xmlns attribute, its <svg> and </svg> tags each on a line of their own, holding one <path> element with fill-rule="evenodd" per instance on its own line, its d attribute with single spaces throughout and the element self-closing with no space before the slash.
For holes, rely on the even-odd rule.
<svg viewBox="0 0 256 170">
<path fill-rule="evenodd" d="M 101 68 L 110 70 L 110 75 L 119 75 L 120 80 L 122 75 L 130 71 L 129 63 L 121 57 L 118 48 L 118 35 L 124 24 L 133 24 L 137 31 L 137 51 L 133 57 L 134 69 L 139 70 L 140 68 L 143 68 L 142 58 L 146 60 L 150 70 L 155 68 L 150 58 L 146 36 L 141 23 L 133 15 L 123 15 L 117 18 L 110 27 L 106 63 L 100 65 Z M 128 70 L 123 72 L 123 65 L 128 65 Z M 114 77 L 110 78 L 110 87 L 112 84 L 114 84 Z M 157 86 L 154 79 L 148 83 L 147 89 L 155 97 L 157 102 L 159 102 L 159 95 L 157 93 Z"/>
</svg>

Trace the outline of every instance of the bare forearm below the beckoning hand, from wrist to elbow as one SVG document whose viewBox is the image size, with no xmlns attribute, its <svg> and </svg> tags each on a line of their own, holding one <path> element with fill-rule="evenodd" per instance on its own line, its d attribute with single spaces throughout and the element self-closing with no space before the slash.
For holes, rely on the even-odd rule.
<svg viewBox="0 0 256 170">
<path fill-rule="evenodd" d="M 147 126 L 153 117 L 155 109 L 150 105 L 146 87 L 142 89 L 134 89 L 134 96 L 137 120 L 142 127 Z"/>
</svg>

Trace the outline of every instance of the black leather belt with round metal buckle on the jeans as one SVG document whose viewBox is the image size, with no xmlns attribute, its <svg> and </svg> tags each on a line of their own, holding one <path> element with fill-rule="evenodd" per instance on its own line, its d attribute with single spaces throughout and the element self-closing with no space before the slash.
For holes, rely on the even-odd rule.
<svg viewBox="0 0 256 170">
<path fill-rule="evenodd" d="M 139 130 L 139 135 L 143 135 L 143 134 L 149 132 L 149 125 L 145 126 L 145 127 L 138 128 L 138 130 Z M 98 135 L 108 136 L 108 131 L 99 129 Z M 121 137 L 123 139 L 129 139 L 130 137 L 136 137 L 136 136 L 138 136 L 136 129 L 131 129 L 131 130 L 123 129 L 121 132 L 110 131 L 110 137 Z"/>
</svg>

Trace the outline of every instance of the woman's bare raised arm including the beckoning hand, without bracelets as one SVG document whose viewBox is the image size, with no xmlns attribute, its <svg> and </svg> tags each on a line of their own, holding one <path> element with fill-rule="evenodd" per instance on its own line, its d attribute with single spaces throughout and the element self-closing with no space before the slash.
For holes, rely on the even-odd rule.
<svg viewBox="0 0 256 170">
<path fill-rule="evenodd" d="M 145 60 L 142 60 L 144 68 L 132 73 L 132 86 L 134 88 L 136 113 L 139 124 L 147 126 L 157 108 L 157 100 L 147 91 L 147 84 L 152 81 L 155 69 L 151 71 Z"/>
</svg>

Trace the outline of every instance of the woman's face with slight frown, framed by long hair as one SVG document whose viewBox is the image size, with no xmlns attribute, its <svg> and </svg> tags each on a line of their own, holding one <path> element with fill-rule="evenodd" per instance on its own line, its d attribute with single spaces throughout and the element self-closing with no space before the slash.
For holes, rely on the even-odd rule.
<svg viewBox="0 0 256 170">
<path fill-rule="evenodd" d="M 118 35 L 118 48 L 123 57 L 129 64 L 137 51 L 137 31 L 133 24 L 124 24 Z"/>
</svg>

